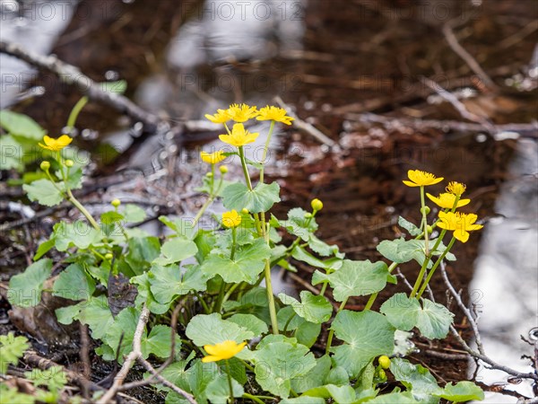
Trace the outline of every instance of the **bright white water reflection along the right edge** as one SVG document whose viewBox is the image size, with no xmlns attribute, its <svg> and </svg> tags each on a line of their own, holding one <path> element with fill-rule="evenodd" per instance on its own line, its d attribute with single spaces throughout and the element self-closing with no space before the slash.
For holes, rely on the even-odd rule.
<svg viewBox="0 0 538 404">
<path fill-rule="evenodd" d="M 533 372 L 522 355 L 533 355 L 533 347 L 521 340 L 538 326 L 538 147 L 531 139 L 518 142 L 516 156 L 496 204 L 503 219 L 488 224 L 482 254 L 471 290 L 480 291 L 482 311 L 479 326 L 486 353 L 499 364 L 521 372 Z M 478 380 L 486 384 L 507 382 L 507 374 L 481 368 Z M 533 397 L 530 383 L 509 384 Z M 514 397 L 486 393 L 490 403 L 516 402 Z"/>
</svg>

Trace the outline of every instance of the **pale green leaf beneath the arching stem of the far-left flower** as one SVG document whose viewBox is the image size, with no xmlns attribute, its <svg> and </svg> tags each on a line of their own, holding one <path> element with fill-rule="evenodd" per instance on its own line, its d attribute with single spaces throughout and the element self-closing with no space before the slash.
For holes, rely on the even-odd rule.
<svg viewBox="0 0 538 404">
<path fill-rule="evenodd" d="M 56 250 L 66 251 L 71 247 L 86 250 L 91 245 L 100 243 L 102 235 L 88 222 L 77 220 L 74 223 L 55 224 L 52 237 L 55 240 Z"/>
</svg>

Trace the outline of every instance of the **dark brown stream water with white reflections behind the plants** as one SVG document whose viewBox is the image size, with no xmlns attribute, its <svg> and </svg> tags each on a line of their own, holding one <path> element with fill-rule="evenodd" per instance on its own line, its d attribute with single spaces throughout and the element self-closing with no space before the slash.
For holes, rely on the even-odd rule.
<svg viewBox="0 0 538 404">
<path fill-rule="evenodd" d="M 279 129 L 267 173 L 279 181 L 284 207 L 324 200 L 321 236 L 351 258 L 379 259 L 375 245 L 398 235 L 397 216 L 418 218 L 412 207 L 418 196 L 401 183 L 408 169 L 466 183 L 473 199 L 469 211 L 485 218 L 486 226 L 482 236 L 456 247 L 458 261 L 449 274 L 480 305 L 486 351 L 500 363 L 530 371 L 519 356 L 532 349 L 519 335 L 538 326 L 535 137 L 371 124 L 360 114 L 464 120 L 421 84 L 425 75 L 496 124 L 534 120 L 536 38 L 522 34 L 538 16 L 533 0 L 0 0 L 0 12 L 2 40 L 42 54 L 52 51 L 97 81 L 126 79 L 130 98 L 172 121 L 203 119 L 231 102 L 265 106 L 279 95 L 340 146 L 331 149 L 304 131 Z M 481 91 L 468 79 L 473 72 L 440 31 L 455 18 L 463 27 L 458 39 L 509 91 Z M 2 108 L 14 106 L 51 133 L 60 130 L 76 92 L 4 55 L 0 73 Z M 120 151 L 140 128 L 98 105 L 84 110 L 78 126 L 81 145 L 95 147 L 99 139 Z M 131 170 L 151 166 L 154 159 L 162 164 L 152 175 L 103 189 L 100 198 L 146 198 L 180 205 L 188 215 L 195 206 L 180 194 L 203 175 L 193 162 L 200 147 L 217 145 L 216 135 L 211 127 L 201 130 L 181 149 L 150 137 L 127 160 L 101 163 L 103 171 L 108 164 Z M 253 159 L 257 146 L 248 150 Z M 163 169 L 170 166 L 171 173 Z M 444 296 L 440 279 L 433 286 Z M 472 364 L 420 358 L 447 381 L 473 373 Z M 481 369 L 477 380 L 503 383 L 507 377 Z M 508 385 L 533 395 L 525 383 Z M 487 400 L 516 402 L 492 392 Z"/>
</svg>

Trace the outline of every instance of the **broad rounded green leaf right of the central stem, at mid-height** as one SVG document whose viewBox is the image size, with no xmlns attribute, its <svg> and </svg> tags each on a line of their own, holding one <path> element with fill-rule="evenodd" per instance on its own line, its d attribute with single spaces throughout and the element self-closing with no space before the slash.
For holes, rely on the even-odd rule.
<svg viewBox="0 0 538 404">
<path fill-rule="evenodd" d="M 334 300 L 343 302 L 351 296 L 366 296 L 386 285 L 388 268 L 382 261 L 351 261 L 344 259 L 342 268 L 326 276 L 333 287 Z"/>
</svg>

